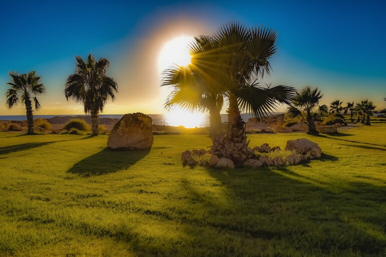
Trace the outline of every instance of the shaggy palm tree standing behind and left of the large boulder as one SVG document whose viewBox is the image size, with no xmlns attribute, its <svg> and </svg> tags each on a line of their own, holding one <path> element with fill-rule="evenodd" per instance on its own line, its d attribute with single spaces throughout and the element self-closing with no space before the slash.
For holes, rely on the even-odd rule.
<svg viewBox="0 0 386 257">
<path fill-rule="evenodd" d="M 92 135 L 98 135 L 98 114 L 103 112 L 107 100 L 115 99 L 118 85 L 106 72 L 110 62 L 101 58 L 95 61 L 90 54 L 87 63 L 79 56 L 76 58 L 75 73 L 71 74 L 65 85 L 66 99 L 73 99 L 84 106 L 84 112 L 91 114 Z"/>
</svg>

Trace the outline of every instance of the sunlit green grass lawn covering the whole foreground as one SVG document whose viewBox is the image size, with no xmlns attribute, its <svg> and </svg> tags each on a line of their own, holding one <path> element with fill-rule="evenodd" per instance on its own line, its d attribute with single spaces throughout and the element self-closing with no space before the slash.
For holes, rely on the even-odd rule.
<svg viewBox="0 0 386 257">
<path fill-rule="evenodd" d="M 204 135 L 111 151 L 107 136 L 0 132 L 0 256 L 385 256 L 386 124 L 308 138 L 282 168 L 182 168 Z"/>
</svg>

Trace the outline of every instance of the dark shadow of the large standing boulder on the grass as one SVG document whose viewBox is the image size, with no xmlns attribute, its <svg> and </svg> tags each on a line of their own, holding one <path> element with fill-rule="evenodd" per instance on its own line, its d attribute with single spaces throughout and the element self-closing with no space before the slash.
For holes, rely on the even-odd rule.
<svg viewBox="0 0 386 257">
<path fill-rule="evenodd" d="M 104 175 L 127 169 L 150 152 L 146 150 L 112 150 L 104 148 L 78 163 L 67 172 L 79 174 L 83 177 Z"/>
</svg>

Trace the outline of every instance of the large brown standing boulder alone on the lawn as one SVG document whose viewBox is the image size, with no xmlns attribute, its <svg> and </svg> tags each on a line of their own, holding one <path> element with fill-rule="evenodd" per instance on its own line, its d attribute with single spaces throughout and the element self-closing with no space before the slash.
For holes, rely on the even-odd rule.
<svg viewBox="0 0 386 257">
<path fill-rule="evenodd" d="M 153 145 L 152 120 L 143 113 L 129 113 L 114 125 L 107 139 L 107 146 L 113 149 L 150 149 Z"/>
</svg>

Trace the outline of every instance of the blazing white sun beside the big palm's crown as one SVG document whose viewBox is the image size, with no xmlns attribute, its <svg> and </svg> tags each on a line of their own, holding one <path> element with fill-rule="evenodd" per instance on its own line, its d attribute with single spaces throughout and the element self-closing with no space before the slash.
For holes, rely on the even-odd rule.
<svg viewBox="0 0 386 257">
<path fill-rule="evenodd" d="M 158 56 L 158 69 L 160 72 L 170 66 L 187 66 L 190 63 L 188 45 L 193 41 L 191 36 L 180 36 L 168 41 Z"/>
</svg>

